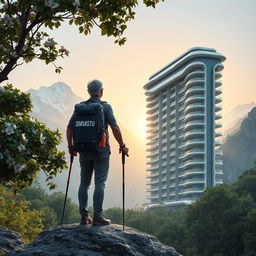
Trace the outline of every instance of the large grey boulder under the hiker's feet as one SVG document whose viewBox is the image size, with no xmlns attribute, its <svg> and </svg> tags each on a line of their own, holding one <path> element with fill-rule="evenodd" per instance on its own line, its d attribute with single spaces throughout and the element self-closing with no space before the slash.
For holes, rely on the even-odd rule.
<svg viewBox="0 0 256 256">
<path fill-rule="evenodd" d="M 120 225 L 92 227 L 78 224 L 43 231 L 22 249 L 5 256 L 180 256 L 154 236 Z"/>
</svg>

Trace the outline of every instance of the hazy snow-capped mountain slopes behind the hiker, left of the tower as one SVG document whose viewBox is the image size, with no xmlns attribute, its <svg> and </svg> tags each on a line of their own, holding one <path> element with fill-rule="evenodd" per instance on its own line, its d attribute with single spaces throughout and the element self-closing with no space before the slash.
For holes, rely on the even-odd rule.
<svg viewBox="0 0 256 256">
<path fill-rule="evenodd" d="M 37 118 L 39 121 L 46 123 L 51 129 L 59 129 L 63 135 L 63 142 L 59 146 L 60 150 L 66 152 L 67 160 L 69 154 L 67 151 L 67 143 L 65 139 L 66 126 L 71 117 L 74 105 L 83 101 L 84 99 L 75 95 L 72 89 L 63 82 L 54 83 L 49 87 L 40 87 L 37 90 L 30 89 L 33 103 L 33 110 L 31 116 Z M 117 120 L 118 121 L 118 120 Z M 125 142 L 130 148 L 130 157 L 126 160 L 126 207 L 134 208 L 142 206 L 146 203 L 145 195 L 145 154 L 144 143 L 138 140 L 131 132 L 118 124 L 121 128 Z M 111 134 L 111 131 L 109 131 Z M 121 156 L 118 154 L 118 144 L 110 136 L 111 144 L 111 160 L 108 181 L 106 183 L 106 193 L 104 200 L 104 207 L 121 207 L 122 205 L 122 164 Z M 136 146 L 133 146 L 136 145 Z M 56 177 L 58 185 L 57 190 L 65 191 L 67 170 L 63 171 Z M 43 188 L 46 188 L 44 182 L 45 176 L 39 176 L 39 183 Z M 79 159 L 75 158 L 72 167 L 71 180 L 69 186 L 69 196 L 74 202 L 78 202 L 77 190 L 80 182 L 80 167 Z M 90 189 L 90 198 L 92 198 L 92 188 Z M 92 205 L 92 202 L 89 202 Z"/>
</svg>

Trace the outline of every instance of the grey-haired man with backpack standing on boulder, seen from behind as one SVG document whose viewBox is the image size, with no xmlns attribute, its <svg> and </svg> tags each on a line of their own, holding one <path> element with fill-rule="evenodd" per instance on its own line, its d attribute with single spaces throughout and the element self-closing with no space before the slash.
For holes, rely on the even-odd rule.
<svg viewBox="0 0 256 256">
<path fill-rule="evenodd" d="M 78 107 L 85 107 L 85 106 L 96 106 L 100 108 L 103 107 L 103 123 L 104 123 L 104 131 L 105 137 L 102 138 L 104 146 L 100 149 L 92 149 L 88 147 L 77 149 L 74 147 L 74 133 L 77 126 L 81 128 L 92 127 L 95 125 L 94 121 L 76 121 L 79 115 L 78 107 L 76 105 L 75 111 L 68 123 L 67 126 L 67 142 L 69 153 L 73 156 L 77 156 L 77 151 L 79 152 L 79 161 L 81 167 L 81 182 L 78 190 L 78 199 L 79 199 L 79 211 L 81 214 L 81 223 L 82 225 L 86 224 L 93 224 L 95 226 L 98 225 L 109 225 L 111 223 L 110 220 L 105 219 L 102 216 L 102 205 L 104 199 L 104 188 L 105 182 L 108 176 L 109 170 L 109 156 L 110 156 L 110 146 L 109 146 L 109 136 L 108 136 L 108 125 L 111 127 L 113 135 L 116 141 L 119 143 L 119 153 L 124 153 L 128 155 L 128 148 L 123 142 L 122 134 L 117 126 L 115 117 L 113 115 L 112 108 L 110 104 L 101 101 L 101 97 L 103 95 L 103 85 L 102 82 L 98 80 L 93 80 L 88 83 L 87 91 L 91 96 L 88 101 L 81 102 L 77 104 Z M 99 104 L 94 104 L 99 103 Z M 91 105 L 90 105 L 91 104 Z M 90 107 L 89 107 L 90 108 Z M 88 109 L 88 107 L 87 107 Z M 100 123 L 100 122 L 99 122 Z M 88 136 L 90 132 L 86 132 L 87 135 L 84 133 L 85 136 Z M 94 171 L 94 178 L 95 178 L 95 190 L 93 194 L 93 219 L 89 216 L 87 210 L 87 203 L 88 203 L 88 189 L 91 183 L 92 174 Z"/>
</svg>

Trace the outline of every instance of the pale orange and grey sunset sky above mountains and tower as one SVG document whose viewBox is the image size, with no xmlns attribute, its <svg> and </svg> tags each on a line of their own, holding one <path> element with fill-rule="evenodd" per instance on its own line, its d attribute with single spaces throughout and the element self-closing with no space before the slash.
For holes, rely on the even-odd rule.
<svg viewBox="0 0 256 256">
<path fill-rule="evenodd" d="M 223 114 L 238 104 L 256 102 L 256 1 L 165 0 L 156 9 L 140 4 L 128 24 L 127 43 L 119 47 L 113 38 L 94 29 L 88 37 L 64 25 L 51 32 L 71 53 L 52 65 L 33 61 L 14 70 L 9 82 L 26 91 L 63 81 L 75 94 L 87 97 L 89 80 L 102 80 L 104 99 L 112 104 L 120 123 L 144 136 L 145 96 L 149 76 L 177 56 L 196 46 L 215 48 L 224 54 Z"/>
</svg>

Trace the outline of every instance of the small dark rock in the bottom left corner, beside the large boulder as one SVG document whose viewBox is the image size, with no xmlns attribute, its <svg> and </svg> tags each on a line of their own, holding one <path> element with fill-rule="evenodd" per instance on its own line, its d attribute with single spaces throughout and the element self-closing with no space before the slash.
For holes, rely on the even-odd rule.
<svg viewBox="0 0 256 256">
<path fill-rule="evenodd" d="M 9 252 L 14 249 L 22 249 L 25 243 L 22 241 L 19 233 L 0 228 L 0 252 Z"/>
</svg>

